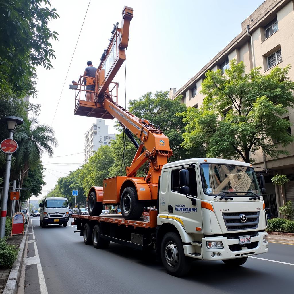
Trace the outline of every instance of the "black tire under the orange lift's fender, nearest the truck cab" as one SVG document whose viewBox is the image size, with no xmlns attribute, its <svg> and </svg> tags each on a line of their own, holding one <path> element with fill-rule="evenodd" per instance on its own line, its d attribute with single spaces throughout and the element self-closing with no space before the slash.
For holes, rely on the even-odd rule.
<svg viewBox="0 0 294 294">
<path fill-rule="evenodd" d="M 130 207 L 128 208 L 128 202 Z M 137 220 L 142 216 L 144 202 L 139 201 L 137 191 L 133 187 L 127 187 L 121 194 L 121 214 L 126 220 Z"/>
</svg>

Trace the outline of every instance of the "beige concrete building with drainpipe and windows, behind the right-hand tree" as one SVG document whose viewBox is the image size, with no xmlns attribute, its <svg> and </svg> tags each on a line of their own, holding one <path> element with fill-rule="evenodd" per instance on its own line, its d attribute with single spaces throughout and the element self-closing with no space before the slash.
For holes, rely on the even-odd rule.
<svg viewBox="0 0 294 294">
<path fill-rule="evenodd" d="M 182 103 L 187 106 L 200 107 L 203 98 L 201 83 L 208 70 L 221 69 L 223 72 L 229 67 L 229 61 L 236 59 L 246 65 L 246 73 L 250 69 L 261 66 L 261 73 L 267 74 L 276 65 L 285 67 L 291 64 L 290 79 L 294 80 L 294 1 L 291 0 L 266 0 L 241 24 L 241 33 L 223 48 L 211 61 L 193 76 L 178 91 L 170 90 L 170 98 L 182 95 Z M 294 122 L 294 110 L 289 108 L 288 114 L 283 116 Z M 294 124 L 291 127 L 294 135 Z M 273 140 L 273 144 L 279 144 Z M 288 146 L 290 155 L 281 156 L 278 160 L 265 158 L 262 150 L 253 157 L 256 159 L 254 166 L 269 169 L 266 179 L 267 193 L 266 206 L 271 208 L 274 215 L 278 215 L 278 207 L 283 202 L 291 200 L 294 204 L 294 144 Z M 278 187 L 270 179 L 275 173 L 286 174 L 290 179 L 283 187 L 284 199 Z M 284 201 L 283 201 L 284 200 Z"/>
</svg>

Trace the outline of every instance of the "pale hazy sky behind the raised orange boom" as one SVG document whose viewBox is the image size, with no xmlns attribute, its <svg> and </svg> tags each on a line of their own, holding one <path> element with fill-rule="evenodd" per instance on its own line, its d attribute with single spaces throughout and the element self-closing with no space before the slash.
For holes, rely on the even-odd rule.
<svg viewBox="0 0 294 294">
<path fill-rule="evenodd" d="M 98 1 L 92 0 L 74 58 L 66 79 L 60 103 L 52 127 L 56 131 L 59 146 L 54 156 L 80 153 L 84 150 L 84 133 L 95 122 L 95 118 L 74 116 L 74 94 L 69 90 L 72 80 L 78 81 L 86 62 L 95 67 L 100 62 L 103 50 L 108 45 L 113 24 L 121 24 L 123 6 L 133 8 L 134 17 L 130 25 L 127 49 L 126 96 L 127 101 L 144 93 L 157 90 L 181 88 L 194 76 L 210 57 L 213 58 L 235 36 L 241 32 L 241 22 L 246 19 L 262 0 L 206 0 L 206 1 Z M 71 56 L 78 38 L 88 1 L 52 1 L 60 19 L 51 21 L 49 27 L 57 31 L 59 41 L 51 43 L 56 60 L 54 69 L 37 68 L 40 123 L 51 125 L 66 77 Z M 114 81 L 120 83 L 118 103 L 124 106 L 124 72 L 121 67 Z M 106 120 L 109 133 L 114 133 L 113 121 Z M 73 156 L 46 158 L 42 196 L 54 188 L 61 176 L 78 168 L 83 163 L 83 153 Z M 75 165 L 73 165 L 75 164 Z M 31 198 L 36 199 L 36 198 Z"/>
</svg>

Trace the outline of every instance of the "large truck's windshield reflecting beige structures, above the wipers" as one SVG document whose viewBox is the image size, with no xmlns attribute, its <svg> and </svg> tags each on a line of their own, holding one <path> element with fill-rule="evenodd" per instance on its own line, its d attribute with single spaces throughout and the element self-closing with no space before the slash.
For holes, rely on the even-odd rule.
<svg viewBox="0 0 294 294">
<path fill-rule="evenodd" d="M 204 192 L 217 195 L 222 192 L 253 192 L 261 195 L 254 169 L 247 166 L 226 164 L 201 164 Z"/>
</svg>

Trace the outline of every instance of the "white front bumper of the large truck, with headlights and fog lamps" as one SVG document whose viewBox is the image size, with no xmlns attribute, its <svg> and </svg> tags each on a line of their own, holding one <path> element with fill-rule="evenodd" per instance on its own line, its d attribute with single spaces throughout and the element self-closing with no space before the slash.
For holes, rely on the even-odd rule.
<svg viewBox="0 0 294 294">
<path fill-rule="evenodd" d="M 243 235 L 246 235 L 244 233 Z M 239 239 L 228 239 L 227 237 L 206 237 L 202 239 L 202 258 L 204 260 L 224 260 L 238 257 L 245 257 L 249 255 L 257 255 L 261 253 L 268 252 L 268 242 L 263 243 L 263 237 L 268 235 L 266 232 L 258 232 L 256 236 L 251 237 L 250 248 L 242 247 L 241 250 L 236 250 L 239 247 Z M 207 241 L 221 241 L 223 243 L 223 248 L 208 249 L 206 246 Z M 249 245 L 249 244 L 248 244 Z M 244 245 L 246 246 L 246 245 Z M 236 250 L 236 251 L 235 251 Z M 215 253 L 212 257 L 211 253 Z M 219 253 L 219 256 L 217 256 Z"/>
</svg>

